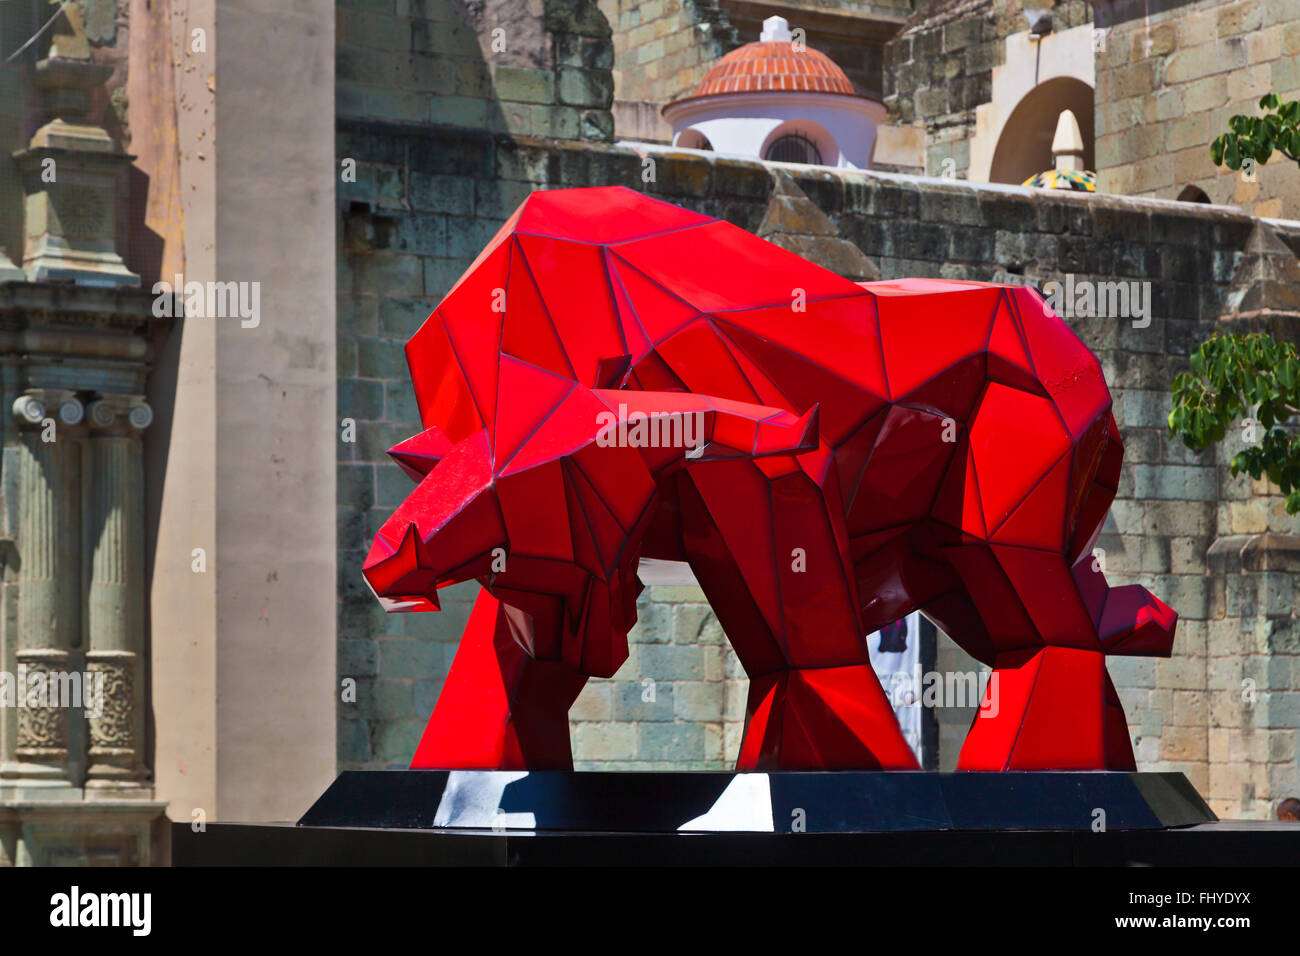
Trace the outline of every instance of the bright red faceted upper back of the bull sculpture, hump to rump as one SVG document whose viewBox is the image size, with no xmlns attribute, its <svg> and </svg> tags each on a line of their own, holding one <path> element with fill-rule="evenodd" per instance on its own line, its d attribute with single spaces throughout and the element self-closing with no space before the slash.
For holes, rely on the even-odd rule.
<svg viewBox="0 0 1300 956">
<path fill-rule="evenodd" d="M 588 388 L 819 405 L 835 447 L 887 406 L 968 423 L 985 381 L 1046 397 L 1072 440 L 1109 406 L 1096 360 L 1026 289 L 859 285 L 623 187 L 529 196 L 407 356 L 424 424 L 451 441 L 495 444 L 511 359 Z"/>
</svg>

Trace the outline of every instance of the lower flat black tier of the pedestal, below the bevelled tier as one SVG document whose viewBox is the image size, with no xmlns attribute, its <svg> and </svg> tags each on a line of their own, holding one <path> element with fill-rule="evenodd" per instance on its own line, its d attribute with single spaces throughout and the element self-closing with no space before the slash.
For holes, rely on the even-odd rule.
<svg viewBox="0 0 1300 956">
<path fill-rule="evenodd" d="M 176 866 L 1295 866 L 1300 825 L 1169 830 L 616 834 L 172 826 Z M 1235 886 L 1235 884 L 1234 884 Z"/>
</svg>

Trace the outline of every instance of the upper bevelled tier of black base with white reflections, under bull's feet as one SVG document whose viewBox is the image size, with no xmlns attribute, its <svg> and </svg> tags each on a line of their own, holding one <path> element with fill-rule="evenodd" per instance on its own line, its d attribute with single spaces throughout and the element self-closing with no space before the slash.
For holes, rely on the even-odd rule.
<svg viewBox="0 0 1300 956">
<path fill-rule="evenodd" d="M 1178 773 L 346 771 L 313 827 L 854 834 L 1158 830 L 1216 817 Z"/>
</svg>

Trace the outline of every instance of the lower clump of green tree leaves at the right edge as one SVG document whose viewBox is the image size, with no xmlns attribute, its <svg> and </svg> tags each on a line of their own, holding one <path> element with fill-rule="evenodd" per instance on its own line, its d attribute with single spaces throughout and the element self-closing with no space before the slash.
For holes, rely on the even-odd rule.
<svg viewBox="0 0 1300 956">
<path fill-rule="evenodd" d="M 1242 419 L 1245 447 L 1232 455 L 1232 475 L 1268 476 L 1300 512 L 1300 436 L 1283 428 L 1300 415 L 1300 358 L 1290 342 L 1262 333 L 1214 333 L 1192 352 L 1191 371 L 1174 377 L 1169 434 L 1193 451 L 1223 441 Z"/>
</svg>

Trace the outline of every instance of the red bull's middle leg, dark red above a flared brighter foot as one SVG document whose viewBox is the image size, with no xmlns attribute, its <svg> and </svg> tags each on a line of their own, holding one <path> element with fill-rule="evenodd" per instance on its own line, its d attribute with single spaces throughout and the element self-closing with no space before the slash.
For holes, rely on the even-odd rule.
<svg viewBox="0 0 1300 956">
<path fill-rule="evenodd" d="M 835 471 L 818 453 L 688 471 L 685 551 L 750 679 L 736 769 L 918 769 L 871 667 Z"/>
</svg>

